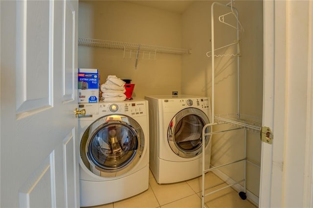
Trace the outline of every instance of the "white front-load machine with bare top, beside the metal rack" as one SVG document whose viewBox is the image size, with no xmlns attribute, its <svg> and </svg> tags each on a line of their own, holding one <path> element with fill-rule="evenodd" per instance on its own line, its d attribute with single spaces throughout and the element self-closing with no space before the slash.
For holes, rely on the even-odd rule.
<svg viewBox="0 0 313 208">
<path fill-rule="evenodd" d="M 149 103 L 149 164 L 156 182 L 175 183 L 200 176 L 202 127 L 210 123 L 210 100 L 191 95 L 156 95 L 145 99 Z M 210 136 L 206 136 L 204 145 L 205 161 L 210 164 Z"/>
</svg>

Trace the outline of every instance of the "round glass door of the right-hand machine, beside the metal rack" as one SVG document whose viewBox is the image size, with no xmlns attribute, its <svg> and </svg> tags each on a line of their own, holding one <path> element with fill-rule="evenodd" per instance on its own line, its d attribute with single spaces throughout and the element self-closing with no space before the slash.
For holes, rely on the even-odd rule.
<svg viewBox="0 0 313 208">
<path fill-rule="evenodd" d="M 198 108 L 185 108 L 171 120 L 167 139 L 175 154 L 182 158 L 193 158 L 202 152 L 202 128 L 209 123 L 208 117 Z M 211 128 L 207 128 L 206 133 Z M 205 146 L 210 136 L 205 137 Z"/>
</svg>

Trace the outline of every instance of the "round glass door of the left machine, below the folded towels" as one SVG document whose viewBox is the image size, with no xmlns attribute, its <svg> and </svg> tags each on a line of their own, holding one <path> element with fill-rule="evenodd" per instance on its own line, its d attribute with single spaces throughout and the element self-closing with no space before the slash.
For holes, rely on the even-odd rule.
<svg viewBox="0 0 313 208">
<path fill-rule="evenodd" d="M 86 129 L 80 144 L 82 161 L 91 172 L 115 177 L 132 169 L 144 149 L 144 134 L 131 117 L 109 115 Z"/>
</svg>

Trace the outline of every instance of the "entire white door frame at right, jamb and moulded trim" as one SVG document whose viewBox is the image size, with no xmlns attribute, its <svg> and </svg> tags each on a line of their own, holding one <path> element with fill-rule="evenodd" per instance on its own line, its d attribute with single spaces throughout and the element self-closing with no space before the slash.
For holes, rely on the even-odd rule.
<svg viewBox="0 0 313 208">
<path fill-rule="evenodd" d="M 312 1 L 264 0 L 260 208 L 313 206 L 312 35 Z"/>
</svg>

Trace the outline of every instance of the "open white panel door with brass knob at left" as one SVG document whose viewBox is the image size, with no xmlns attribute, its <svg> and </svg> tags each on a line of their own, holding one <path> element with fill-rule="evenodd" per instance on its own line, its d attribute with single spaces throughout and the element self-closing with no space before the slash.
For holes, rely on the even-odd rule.
<svg viewBox="0 0 313 208">
<path fill-rule="evenodd" d="M 0 1 L 0 207 L 79 207 L 78 1 Z"/>
</svg>

